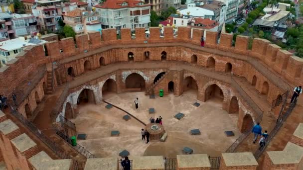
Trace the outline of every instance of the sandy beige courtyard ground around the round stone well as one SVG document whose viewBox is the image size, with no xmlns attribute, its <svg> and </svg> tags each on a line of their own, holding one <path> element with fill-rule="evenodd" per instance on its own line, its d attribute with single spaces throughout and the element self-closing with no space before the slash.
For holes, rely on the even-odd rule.
<svg viewBox="0 0 303 170">
<path fill-rule="evenodd" d="M 139 98 L 139 109 L 136 110 L 134 100 Z M 86 133 L 86 140 L 78 143 L 97 157 L 118 157 L 124 149 L 131 156 L 157 156 L 175 158 L 181 155 L 183 147 L 193 149 L 193 154 L 220 156 L 240 135 L 237 129 L 237 114 L 228 114 L 222 109 L 218 100 L 206 102 L 196 100 L 196 91 L 186 91 L 181 96 L 173 94 L 150 99 L 144 92 L 108 93 L 104 99 L 123 108 L 146 124 L 151 116 L 163 117 L 162 123 L 168 136 L 165 142 L 141 140 L 141 128 L 144 125 L 132 118 L 122 119 L 125 112 L 111 108 L 106 103 L 81 105 L 79 114 L 71 121 L 76 124 L 78 133 Z M 192 104 L 199 102 L 195 107 Z M 155 114 L 149 114 L 149 108 Z M 174 118 L 178 112 L 185 114 L 181 120 Z M 201 135 L 190 135 L 191 129 L 200 129 Z M 119 137 L 111 137 L 112 130 L 119 130 Z M 235 136 L 227 137 L 224 131 L 233 131 Z"/>
</svg>

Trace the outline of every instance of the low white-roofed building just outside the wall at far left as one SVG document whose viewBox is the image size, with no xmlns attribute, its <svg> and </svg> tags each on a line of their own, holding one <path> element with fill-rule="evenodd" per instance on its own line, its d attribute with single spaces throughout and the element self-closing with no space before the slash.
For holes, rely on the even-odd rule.
<svg viewBox="0 0 303 170">
<path fill-rule="evenodd" d="M 44 44 L 47 41 L 38 38 L 18 37 L 0 42 L 0 64 L 5 64 L 14 59 L 26 46 Z"/>
</svg>

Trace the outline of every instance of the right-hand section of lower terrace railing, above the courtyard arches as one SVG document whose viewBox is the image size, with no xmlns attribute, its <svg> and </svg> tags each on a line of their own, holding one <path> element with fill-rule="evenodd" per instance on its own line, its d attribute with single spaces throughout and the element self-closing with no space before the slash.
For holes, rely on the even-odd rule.
<svg viewBox="0 0 303 170">
<path fill-rule="evenodd" d="M 237 81 L 232 77 L 231 78 L 231 86 L 236 88 L 242 98 L 247 102 L 247 104 L 254 110 L 257 114 L 256 122 L 261 122 L 263 117 L 263 111 L 261 108 L 254 102 L 254 100 L 245 92 L 245 90 L 237 83 Z"/>
</svg>

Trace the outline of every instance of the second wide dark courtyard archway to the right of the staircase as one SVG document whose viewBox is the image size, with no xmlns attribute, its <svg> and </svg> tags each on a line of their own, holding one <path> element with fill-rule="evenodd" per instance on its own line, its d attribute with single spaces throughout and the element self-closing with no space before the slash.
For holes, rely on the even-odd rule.
<svg viewBox="0 0 303 170">
<path fill-rule="evenodd" d="M 209 99 L 214 99 L 216 101 L 222 102 L 224 100 L 224 94 L 222 89 L 216 85 L 209 85 L 206 89 L 205 89 L 205 93 L 204 93 L 204 101 L 207 101 Z"/>
</svg>

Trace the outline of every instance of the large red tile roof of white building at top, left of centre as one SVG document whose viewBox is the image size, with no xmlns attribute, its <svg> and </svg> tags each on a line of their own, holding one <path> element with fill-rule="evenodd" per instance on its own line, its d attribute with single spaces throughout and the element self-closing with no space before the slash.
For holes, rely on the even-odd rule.
<svg viewBox="0 0 303 170">
<path fill-rule="evenodd" d="M 122 3 L 126 2 L 127 5 L 122 6 Z M 143 5 L 138 5 L 138 3 L 142 2 Z M 111 9 L 118 9 L 124 7 L 142 7 L 142 6 L 150 6 L 151 4 L 146 4 L 141 0 L 106 0 L 101 4 L 95 5 L 98 8 L 111 8 Z"/>
</svg>

